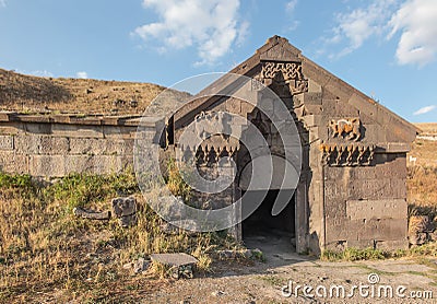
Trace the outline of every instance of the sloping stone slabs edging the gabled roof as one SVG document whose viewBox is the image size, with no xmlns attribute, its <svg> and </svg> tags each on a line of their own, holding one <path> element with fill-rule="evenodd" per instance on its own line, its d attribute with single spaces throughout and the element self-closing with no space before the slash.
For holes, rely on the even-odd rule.
<svg viewBox="0 0 437 304">
<path fill-rule="evenodd" d="M 262 61 L 302 62 L 305 77 L 323 89 L 323 98 L 340 100 L 345 103 L 345 106 L 357 108 L 361 115 L 366 115 L 376 124 L 385 127 L 387 132 L 392 132 L 395 141 L 412 142 L 416 133 L 420 132 L 420 129 L 414 125 L 303 56 L 299 49 L 291 45 L 286 38 L 280 36 L 269 38 L 262 47 L 256 50 L 253 56 L 229 72 L 255 77 L 259 73 Z M 220 81 L 221 79 L 216 82 Z M 216 85 L 216 82 L 205 87 L 198 95 L 203 95 L 209 87 Z M 214 104 L 212 98 L 194 98 L 175 114 L 175 126 L 192 119 L 201 109 L 208 108 L 212 104 Z"/>
</svg>

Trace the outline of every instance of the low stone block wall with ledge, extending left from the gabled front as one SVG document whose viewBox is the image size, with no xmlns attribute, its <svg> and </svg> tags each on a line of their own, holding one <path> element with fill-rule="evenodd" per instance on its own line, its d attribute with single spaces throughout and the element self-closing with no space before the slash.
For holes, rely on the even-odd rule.
<svg viewBox="0 0 437 304">
<path fill-rule="evenodd" d="M 37 177 L 120 172 L 133 165 L 140 121 L 157 144 L 162 117 L 0 113 L 0 169 Z"/>
</svg>

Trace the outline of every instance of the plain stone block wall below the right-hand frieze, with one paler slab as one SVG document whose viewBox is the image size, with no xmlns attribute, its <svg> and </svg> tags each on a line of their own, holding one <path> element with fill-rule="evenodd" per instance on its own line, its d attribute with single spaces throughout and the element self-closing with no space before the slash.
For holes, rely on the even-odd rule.
<svg viewBox="0 0 437 304">
<path fill-rule="evenodd" d="M 404 154 L 377 154 L 375 166 L 326 167 L 328 248 L 405 248 Z M 383 162 L 382 162 L 383 161 Z"/>
</svg>

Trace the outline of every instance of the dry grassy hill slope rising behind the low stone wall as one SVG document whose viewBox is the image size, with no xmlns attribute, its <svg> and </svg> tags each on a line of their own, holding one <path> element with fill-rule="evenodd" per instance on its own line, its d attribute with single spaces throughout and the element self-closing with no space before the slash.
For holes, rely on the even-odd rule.
<svg viewBox="0 0 437 304">
<path fill-rule="evenodd" d="M 152 83 L 42 78 L 0 69 L 0 110 L 134 115 L 164 90 Z M 190 96 L 172 93 L 180 102 Z M 161 115 L 165 109 L 158 105 L 154 112 Z"/>
</svg>

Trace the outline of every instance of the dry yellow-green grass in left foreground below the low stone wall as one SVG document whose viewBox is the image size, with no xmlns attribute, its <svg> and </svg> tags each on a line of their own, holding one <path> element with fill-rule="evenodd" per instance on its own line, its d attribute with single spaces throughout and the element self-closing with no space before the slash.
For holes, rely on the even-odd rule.
<svg viewBox="0 0 437 304">
<path fill-rule="evenodd" d="M 116 220 L 71 213 L 75 206 L 108 209 L 120 191 L 138 199 L 135 226 L 121 229 Z M 211 250 L 235 246 L 216 233 L 165 234 L 161 218 L 146 204 L 158 195 L 158 189 L 145 198 L 139 195 L 129 172 L 72 175 L 46 186 L 28 176 L 0 175 L 0 302 L 135 301 L 167 281 L 153 271 L 132 276 L 122 265 L 151 253 L 185 252 L 208 270 Z"/>
</svg>

